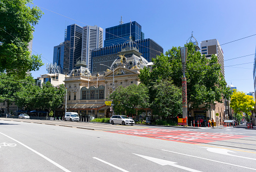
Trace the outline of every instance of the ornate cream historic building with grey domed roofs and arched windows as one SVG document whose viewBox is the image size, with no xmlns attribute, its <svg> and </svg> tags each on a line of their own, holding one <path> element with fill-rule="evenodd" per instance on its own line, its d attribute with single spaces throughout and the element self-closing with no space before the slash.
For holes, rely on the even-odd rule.
<svg viewBox="0 0 256 172">
<path fill-rule="evenodd" d="M 76 111 L 82 117 L 110 117 L 109 95 L 119 86 L 138 85 L 139 71 L 148 64 L 134 46 L 123 47 L 118 56 L 106 72 L 93 75 L 83 61 L 78 61 L 65 77 L 67 100 L 64 100 L 63 108 L 67 102 L 67 111 Z"/>
</svg>

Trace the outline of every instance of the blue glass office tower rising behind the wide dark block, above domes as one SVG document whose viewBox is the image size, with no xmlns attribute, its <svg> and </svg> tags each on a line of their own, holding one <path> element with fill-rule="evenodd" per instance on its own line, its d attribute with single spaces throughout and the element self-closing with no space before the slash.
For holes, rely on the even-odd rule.
<svg viewBox="0 0 256 172">
<path fill-rule="evenodd" d="M 142 38 L 141 38 L 142 36 Z M 130 22 L 106 28 L 106 38 L 104 41 L 104 47 L 117 44 L 123 44 L 129 41 L 130 37 Z M 141 26 L 137 22 L 132 22 L 131 25 L 131 37 L 132 40 L 144 39 L 144 33 L 141 32 Z"/>
</svg>

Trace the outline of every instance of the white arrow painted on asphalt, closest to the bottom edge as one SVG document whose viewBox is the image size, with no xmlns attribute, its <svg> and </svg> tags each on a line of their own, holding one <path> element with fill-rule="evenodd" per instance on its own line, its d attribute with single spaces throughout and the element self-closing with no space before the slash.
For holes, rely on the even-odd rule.
<svg viewBox="0 0 256 172">
<path fill-rule="evenodd" d="M 147 160 L 150 160 L 152 162 L 156 162 L 160 165 L 171 165 L 171 166 L 181 168 L 181 169 L 185 169 L 185 170 L 192 171 L 192 172 L 201 172 L 201 171 L 198 171 L 196 169 L 192 169 L 192 168 L 188 168 L 188 167 L 185 167 L 185 166 L 177 165 L 176 164 L 177 162 L 172 162 L 172 161 L 168 161 L 168 160 L 164 160 L 164 159 L 153 158 L 153 157 L 144 156 L 144 155 L 138 155 L 138 154 L 135 154 L 135 153 L 133 153 L 133 154 L 137 155 L 137 156 L 140 156 L 142 158 L 145 158 Z"/>
</svg>

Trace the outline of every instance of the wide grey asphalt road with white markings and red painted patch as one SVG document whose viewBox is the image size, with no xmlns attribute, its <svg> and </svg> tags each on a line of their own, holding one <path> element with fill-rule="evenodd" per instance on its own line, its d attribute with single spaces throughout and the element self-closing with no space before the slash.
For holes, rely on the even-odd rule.
<svg viewBox="0 0 256 172">
<path fill-rule="evenodd" d="M 0 118 L 0 171 L 255 171 L 256 130 Z"/>
</svg>

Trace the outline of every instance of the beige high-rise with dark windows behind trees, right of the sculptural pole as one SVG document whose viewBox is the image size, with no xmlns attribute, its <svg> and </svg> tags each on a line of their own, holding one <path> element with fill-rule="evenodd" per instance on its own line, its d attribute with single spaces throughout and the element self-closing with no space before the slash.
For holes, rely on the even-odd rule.
<svg viewBox="0 0 256 172">
<path fill-rule="evenodd" d="M 225 77 L 223 50 L 218 39 L 201 41 L 201 53 L 205 54 L 207 58 L 211 58 L 212 54 L 216 54 L 218 63 L 221 65 L 221 73 Z"/>
</svg>

